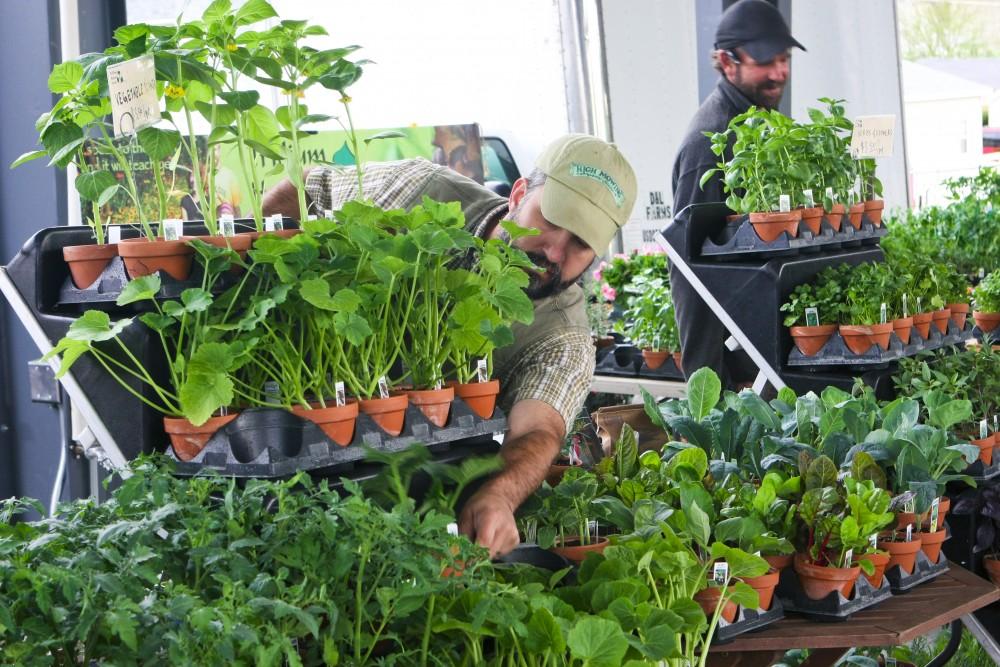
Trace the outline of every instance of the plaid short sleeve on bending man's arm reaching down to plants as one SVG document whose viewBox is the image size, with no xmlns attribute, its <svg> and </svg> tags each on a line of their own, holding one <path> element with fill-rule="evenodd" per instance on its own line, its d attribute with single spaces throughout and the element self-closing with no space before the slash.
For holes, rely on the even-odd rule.
<svg viewBox="0 0 1000 667">
<path fill-rule="evenodd" d="M 509 412 L 517 401 L 542 401 L 562 415 L 566 432 L 571 432 L 590 392 L 594 359 L 590 334 L 576 328 L 536 341 L 518 355 L 514 364 L 497 369 L 501 407 Z"/>
</svg>

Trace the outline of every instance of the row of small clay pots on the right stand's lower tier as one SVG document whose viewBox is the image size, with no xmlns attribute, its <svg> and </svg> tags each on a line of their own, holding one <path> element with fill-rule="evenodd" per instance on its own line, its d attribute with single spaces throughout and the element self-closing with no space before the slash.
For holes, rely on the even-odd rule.
<svg viewBox="0 0 1000 667">
<path fill-rule="evenodd" d="M 969 304 L 953 303 L 941 310 L 917 313 L 911 317 L 900 317 L 885 324 L 821 324 L 814 327 L 789 327 L 788 331 L 799 352 L 807 357 L 816 355 L 836 331 L 844 338 L 844 344 L 854 354 L 864 354 L 873 345 L 883 350 L 889 349 L 889 341 L 893 333 L 899 337 L 903 345 L 910 344 L 910 333 L 916 327 L 917 333 L 924 340 L 930 337 L 931 324 L 940 333 L 948 331 L 948 320 L 951 319 L 959 329 L 965 328 L 965 320 L 969 313 Z"/>
</svg>

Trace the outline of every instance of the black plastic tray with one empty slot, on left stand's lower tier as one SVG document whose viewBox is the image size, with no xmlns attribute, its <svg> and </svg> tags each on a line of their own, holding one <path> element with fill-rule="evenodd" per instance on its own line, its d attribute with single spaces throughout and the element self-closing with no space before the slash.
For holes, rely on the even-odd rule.
<svg viewBox="0 0 1000 667">
<path fill-rule="evenodd" d="M 456 398 L 444 427 L 432 424 L 416 406 L 408 406 L 403 430 L 397 436 L 383 431 L 368 415 L 359 414 L 354 439 L 341 446 L 311 421 L 290 412 L 252 408 L 219 429 L 193 459 L 177 461 L 175 472 L 190 476 L 212 470 L 232 477 L 273 478 L 305 470 L 336 475 L 362 461 L 365 446 L 391 452 L 423 443 L 441 451 L 473 438 L 492 442 L 493 434 L 506 426 L 507 419 L 499 408 L 490 419 L 483 419 Z M 167 453 L 176 460 L 172 449 Z"/>
</svg>

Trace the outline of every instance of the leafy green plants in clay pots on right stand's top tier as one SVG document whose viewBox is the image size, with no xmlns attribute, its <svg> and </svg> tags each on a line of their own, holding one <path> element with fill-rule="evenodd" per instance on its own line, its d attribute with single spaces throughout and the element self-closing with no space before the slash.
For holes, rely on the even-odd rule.
<svg viewBox="0 0 1000 667">
<path fill-rule="evenodd" d="M 825 218 L 837 232 L 845 205 L 851 206 L 849 219 L 856 229 L 866 210 L 874 226 L 881 224 L 882 184 L 875 162 L 851 158 L 853 123 L 845 116 L 843 100 L 820 101 L 826 110 L 809 109 L 809 123 L 751 107 L 734 117 L 726 131 L 706 133 L 722 161 L 701 183 L 721 173 L 726 205 L 737 216 L 748 216 L 765 243 L 782 233 L 797 236 L 800 221 L 818 235 Z M 860 192 L 855 190 L 859 178 Z"/>
</svg>

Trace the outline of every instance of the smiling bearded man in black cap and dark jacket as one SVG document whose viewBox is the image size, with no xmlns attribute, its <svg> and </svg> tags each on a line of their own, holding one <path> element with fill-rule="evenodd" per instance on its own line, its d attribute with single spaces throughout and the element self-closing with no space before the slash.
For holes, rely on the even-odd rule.
<svg viewBox="0 0 1000 667">
<path fill-rule="evenodd" d="M 777 109 L 788 81 L 792 47 L 805 51 L 778 10 L 765 0 L 739 0 L 723 13 L 712 53 L 722 78 L 691 120 L 674 160 L 675 215 L 690 204 L 725 201 L 721 175 L 699 187 L 702 174 L 719 161 L 704 133 L 724 131 L 733 117 L 751 106 Z M 732 138 L 724 158 L 731 157 Z M 725 327 L 674 267 L 670 269 L 670 286 L 684 373 L 690 377 L 708 366 L 731 389 L 752 380 L 749 359 L 745 354 L 741 355 L 743 360 L 732 358 L 724 351 Z"/>
</svg>

